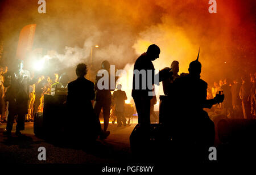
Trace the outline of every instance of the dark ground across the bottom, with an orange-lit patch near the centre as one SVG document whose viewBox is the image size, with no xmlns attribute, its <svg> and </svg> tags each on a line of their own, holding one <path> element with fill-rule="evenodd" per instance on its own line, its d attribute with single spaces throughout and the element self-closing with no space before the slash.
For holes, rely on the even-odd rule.
<svg viewBox="0 0 256 175">
<path fill-rule="evenodd" d="M 117 165 L 123 166 L 155 166 L 159 169 L 170 168 L 172 164 L 168 163 L 164 157 L 168 155 L 160 155 L 153 162 L 141 161 L 134 157 L 130 150 L 130 134 L 135 127 L 134 124 L 127 125 L 126 127 L 117 127 L 117 124 L 109 124 L 108 130 L 110 135 L 105 140 L 96 140 L 93 144 L 88 146 L 71 146 L 59 142 L 46 141 L 37 138 L 33 131 L 33 122 L 25 124 L 26 129 L 22 131 L 26 137 L 18 138 L 15 136 L 15 126 L 13 126 L 13 137 L 7 139 L 3 136 L 3 131 L 6 123 L 0 125 L 0 164 L 86 164 L 86 167 L 96 167 L 101 170 L 102 167 L 109 165 L 116 167 Z M 81 138 L 83 139 L 83 138 Z M 251 138 L 255 139 L 255 138 Z M 241 138 L 236 140 L 241 141 Z M 38 148 L 46 148 L 46 161 L 38 160 Z M 217 161 L 208 161 L 210 164 L 216 163 L 255 163 L 255 144 L 246 142 L 238 142 L 234 144 L 218 144 L 217 147 Z M 189 148 L 188 148 L 189 149 Z M 159 150 L 151 150 L 158 153 Z M 192 151 L 192 150 L 191 150 Z M 188 157 L 185 160 L 187 163 L 193 163 L 195 157 Z M 161 160 L 164 159 L 164 160 Z M 167 165 L 162 164 L 166 162 Z M 84 165 L 82 165 L 84 166 Z M 175 166 L 172 166 L 175 167 Z"/>
</svg>

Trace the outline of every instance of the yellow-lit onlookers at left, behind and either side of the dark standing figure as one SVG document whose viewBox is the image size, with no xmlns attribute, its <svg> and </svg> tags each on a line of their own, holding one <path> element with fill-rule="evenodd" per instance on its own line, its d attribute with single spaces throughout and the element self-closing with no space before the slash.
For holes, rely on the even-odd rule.
<svg viewBox="0 0 256 175">
<path fill-rule="evenodd" d="M 0 123 L 6 123 L 7 118 L 9 116 L 9 110 L 8 110 L 9 101 L 7 100 L 9 92 L 7 92 L 7 89 L 10 87 L 10 84 L 7 84 L 7 80 L 11 78 L 11 75 L 10 75 L 10 72 L 7 72 L 7 70 L 8 70 L 7 66 L 5 67 L 5 71 L 3 71 L 3 68 L 0 67 L 0 71 L 1 71 L 1 74 L 0 74 L 0 81 L 1 81 Z M 30 76 L 29 72 L 25 72 L 25 74 Z M 30 76 L 30 78 L 32 79 L 33 75 Z M 59 77 L 59 74 L 55 73 L 55 78 L 50 78 L 49 76 L 44 76 L 44 75 L 37 76 L 34 84 L 28 85 L 26 88 L 27 89 L 26 93 L 28 95 L 28 103 L 27 103 L 28 112 L 25 117 L 25 122 L 34 121 L 35 113 L 43 112 L 43 101 L 44 101 L 43 97 L 45 94 L 51 95 L 52 87 L 65 88 L 67 86 L 67 83 L 68 83 L 68 76 L 65 73 L 61 74 L 60 77 Z M 6 87 L 4 86 L 4 84 L 6 84 Z M 14 122 L 15 122 L 15 119 L 14 119 Z"/>
</svg>

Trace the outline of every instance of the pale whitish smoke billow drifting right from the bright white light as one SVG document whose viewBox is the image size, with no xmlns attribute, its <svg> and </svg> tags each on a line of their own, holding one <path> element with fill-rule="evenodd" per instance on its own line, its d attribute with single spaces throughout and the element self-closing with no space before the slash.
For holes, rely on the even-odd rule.
<svg viewBox="0 0 256 175">
<path fill-rule="evenodd" d="M 47 55 L 42 56 L 41 59 L 47 61 L 49 59 L 56 59 L 56 70 L 75 67 L 78 63 L 90 64 L 92 57 L 92 66 L 94 69 L 100 69 L 100 63 L 108 60 L 111 65 L 121 67 L 125 63 L 134 59 L 134 48 L 128 46 L 129 37 L 123 38 L 122 43 L 112 43 L 109 45 L 100 45 L 101 39 L 105 36 L 104 32 L 98 32 L 96 27 L 93 27 L 92 36 L 86 38 L 83 47 L 79 46 L 65 46 L 63 53 L 58 53 L 56 50 L 49 50 Z M 127 42 L 126 42 L 127 41 Z M 98 46 L 97 48 L 95 46 Z M 40 61 L 42 62 L 42 61 Z"/>
</svg>

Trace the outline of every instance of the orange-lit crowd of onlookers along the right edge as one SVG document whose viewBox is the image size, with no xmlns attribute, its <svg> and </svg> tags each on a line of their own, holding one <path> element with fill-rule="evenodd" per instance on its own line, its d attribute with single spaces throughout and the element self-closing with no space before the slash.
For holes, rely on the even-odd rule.
<svg viewBox="0 0 256 175">
<path fill-rule="evenodd" d="M 231 119 L 255 119 L 255 79 L 256 72 L 242 75 L 233 81 L 226 78 L 214 82 L 213 87 L 208 88 L 207 97 L 210 99 L 223 91 L 225 100 L 223 103 L 214 105 L 212 112 L 224 114 Z"/>
</svg>

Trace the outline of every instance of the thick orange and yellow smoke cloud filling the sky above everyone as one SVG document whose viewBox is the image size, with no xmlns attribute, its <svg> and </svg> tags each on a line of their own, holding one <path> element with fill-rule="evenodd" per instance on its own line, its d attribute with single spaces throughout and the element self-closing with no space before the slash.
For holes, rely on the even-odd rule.
<svg viewBox="0 0 256 175">
<path fill-rule="evenodd" d="M 94 70 L 105 59 L 122 69 L 154 43 L 161 48 L 156 69 L 177 60 L 180 72 L 187 72 L 200 47 L 207 81 L 233 78 L 243 67 L 255 70 L 254 1 L 217 1 L 217 14 L 209 14 L 208 1 L 200 0 L 46 0 L 46 14 L 38 13 L 37 2 L 1 2 L 0 37 L 7 62 L 15 57 L 20 29 L 36 23 L 34 49 L 43 48 L 42 57 L 57 59 L 56 69 L 90 63 L 94 45 L 99 45 L 93 48 Z"/>
</svg>

